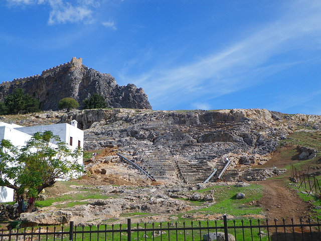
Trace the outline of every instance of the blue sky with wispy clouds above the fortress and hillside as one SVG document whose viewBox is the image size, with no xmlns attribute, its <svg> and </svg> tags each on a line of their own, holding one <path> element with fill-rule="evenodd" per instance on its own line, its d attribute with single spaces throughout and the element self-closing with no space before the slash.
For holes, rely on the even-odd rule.
<svg viewBox="0 0 321 241">
<path fill-rule="evenodd" d="M 153 109 L 321 114 L 321 1 L 0 0 L 0 81 L 82 58 Z"/>
</svg>

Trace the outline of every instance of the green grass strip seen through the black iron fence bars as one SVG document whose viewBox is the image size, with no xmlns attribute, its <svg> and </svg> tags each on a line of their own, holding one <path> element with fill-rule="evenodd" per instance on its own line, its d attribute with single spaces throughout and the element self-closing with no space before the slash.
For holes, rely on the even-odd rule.
<svg viewBox="0 0 321 241">
<path fill-rule="evenodd" d="M 83 241 L 90 241 L 90 240 L 127 240 L 127 224 L 114 224 L 110 225 L 108 222 L 114 221 L 113 218 L 106 219 L 105 224 L 101 224 L 98 226 L 90 225 L 90 226 L 83 226 L 83 227 L 76 227 L 76 231 L 84 231 L 84 233 L 75 233 L 76 239 L 82 239 Z M 260 224 L 263 224 L 264 222 L 261 222 Z M 243 223 L 241 220 L 236 220 L 234 222 L 233 220 L 228 220 L 228 226 L 236 225 L 257 225 L 257 220 L 252 221 L 250 223 L 249 220 L 244 220 Z M 131 240 L 186 240 L 186 241 L 192 241 L 192 240 L 204 240 L 203 235 L 207 234 L 209 232 L 224 232 L 223 228 L 223 220 L 217 220 L 217 221 L 186 221 L 186 222 L 148 222 L 148 223 L 139 223 L 138 225 L 136 223 L 131 224 Z M 206 227 L 206 229 L 197 229 L 198 227 Z M 148 231 L 142 231 L 142 228 L 151 229 Z M 157 231 L 153 229 L 165 229 L 162 231 Z M 179 230 L 174 230 L 175 228 L 178 228 Z M 184 229 L 186 230 L 184 230 Z M 193 228 L 193 230 L 192 230 Z M 195 229 L 196 228 L 196 229 Z M 30 228 L 27 228 L 29 230 Z M 52 229 L 52 227 L 51 227 Z M 61 227 L 57 227 L 55 230 L 56 232 L 61 231 Z M 97 232 L 99 230 L 99 233 Z M 104 232 L 106 230 L 106 232 Z M 114 233 L 111 233 L 110 231 L 114 230 Z M 264 233 L 267 233 L 267 231 L 263 228 L 260 229 Z M 232 235 L 236 236 L 236 240 L 261 240 L 266 241 L 269 240 L 268 237 L 265 235 L 259 237 L 258 233 L 260 231 L 258 228 L 238 228 L 233 229 L 229 228 L 228 232 Z M 63 226 L 64 232 L 69 232 L 69 226 L 65 225 Z M 137 232 L 138 231 L 138 232 Z M 271 229 L 270 229 L 271 231 Z M 91 232 L 91 233 L 89 233 Z M 253 238 L 251 237 L 253 236 Z M 37 236 L 38 238 L 38 236 Z M 63 236 L 59 236 L 59 240 L 69 240 L 69 235 L 65 234 Z M 42 235 L 40 240 L 46 240 L 46 241 L 53 241 L 54 236 L 53 235 Z M 57 236 L 56 236 L 57 240 Z M 273 239 L 274 240 L 274 239 Z"/>
</svg>

